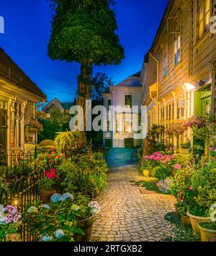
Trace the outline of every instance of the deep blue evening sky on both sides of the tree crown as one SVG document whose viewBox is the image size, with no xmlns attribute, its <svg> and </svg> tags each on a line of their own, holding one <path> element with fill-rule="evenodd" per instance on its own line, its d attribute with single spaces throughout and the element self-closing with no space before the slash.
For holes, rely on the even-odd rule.
<svg viewBox="0 0 216 256">
<path fill-rule="evenodd" d="M 168 0 L 116 0 L 120 43 L 125 59 L 119 66 L 94 67 L 106 72 L 114 83 L 140 71 L 145 53 L 150 49 Z M 0 0 L 0 16 L 5 33 L 0 47 L 48 96 L 48 101 L 73 101 L 79 64 L 52 61 L 47 55 L 53 10 L 47 0 Z"/>
</svg>

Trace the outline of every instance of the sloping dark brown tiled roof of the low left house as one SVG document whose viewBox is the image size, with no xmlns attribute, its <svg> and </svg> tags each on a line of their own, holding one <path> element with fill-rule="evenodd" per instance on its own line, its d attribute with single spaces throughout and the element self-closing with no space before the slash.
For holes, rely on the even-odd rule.
<svg viewBox="0 0 216 256">
<path fill-rule="evenodd" d="M 0 78 L 45 99 L 47 96 L 0 47 Z"/>
</svg>

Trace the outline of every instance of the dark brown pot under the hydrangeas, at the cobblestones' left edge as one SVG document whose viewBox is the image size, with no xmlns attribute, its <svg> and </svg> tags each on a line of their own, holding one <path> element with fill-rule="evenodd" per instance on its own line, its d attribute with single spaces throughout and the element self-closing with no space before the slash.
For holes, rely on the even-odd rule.
<svg viewBox="0 0 216 256">
<path fill-rule="evenodd" d="M 77 221 L 76 227 L 78 229 L 82 229 L 82 231 L 84 231 L 84 235 L 74 234 L 75 242 L 89 242 L 91 240 L 93 218 L 94 216 L 92 215 L 91 217 L 86 218 L 85 220 Z"/>
</svg>

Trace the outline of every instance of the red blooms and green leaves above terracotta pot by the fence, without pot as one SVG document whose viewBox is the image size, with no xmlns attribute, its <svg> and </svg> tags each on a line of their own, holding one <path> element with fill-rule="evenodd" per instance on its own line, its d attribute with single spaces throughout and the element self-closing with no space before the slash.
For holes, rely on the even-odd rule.
<svg viewBox="0 0 216 256">
<path fill-rule="evenodd" d="M 52 190 L 57 178 L 57 170 L 45 171 L 44 178 L 39 179 L 37 185 L 40 189 Z"/>
</svg>

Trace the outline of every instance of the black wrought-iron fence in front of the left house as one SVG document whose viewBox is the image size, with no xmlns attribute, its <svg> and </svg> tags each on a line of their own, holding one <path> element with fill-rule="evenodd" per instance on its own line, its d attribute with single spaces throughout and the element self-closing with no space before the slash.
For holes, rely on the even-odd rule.
<svg viewBox="0 0 216 256">
<path fill-rule="evenodd" d="M 35 151 L 36 152 L 36 151 Z M 0 153 L 0 177 L 5 185 L 0 184 L 0 204 L 17 205 L 23 213 L 29 206 L 40 201 L 38 180 L 44 177 L 42 168 L 34 168 L 37 152 L 29 150 L 6 150 Z M 34 171 L 32 171 L 32 168 Z M 56 184 L 56 192 L 62 194 L 61 179 Z M 32 242 L 34 238 L 25 226 L 22 226 L 23 242 Z"/>
</svg>

